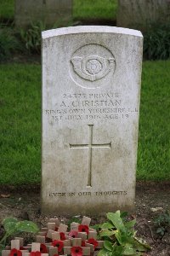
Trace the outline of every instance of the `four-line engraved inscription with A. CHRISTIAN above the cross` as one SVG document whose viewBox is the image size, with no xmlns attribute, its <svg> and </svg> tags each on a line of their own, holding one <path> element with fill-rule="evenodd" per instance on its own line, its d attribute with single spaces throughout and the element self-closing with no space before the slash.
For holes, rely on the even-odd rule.
<svg viewBox="0 0 170 256">
<path fill-rule="evenodd" d="M 58 102 L 54 102 L 54 106 L 53 109 L 45 109 L 50 122 L 66 122 L 67 120 L 116 122 L 119 119 L 130 119 L 139 111 L 138 108 L 129 108 L 123 102 L 122 94 L 114 91 L 65 93 Z"/>
</svg>

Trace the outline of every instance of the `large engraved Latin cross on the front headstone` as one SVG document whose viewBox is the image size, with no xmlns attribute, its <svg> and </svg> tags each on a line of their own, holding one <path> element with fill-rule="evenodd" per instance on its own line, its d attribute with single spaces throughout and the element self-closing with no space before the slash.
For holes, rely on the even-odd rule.
<svg viewBox="0 0 170 256">
<path fill-rule="evenodd" d="M 87 148 L 88 149 L 88 187 L 92 187 L 92 152 L 93 148 L 111 148 L 111 143 L 94 144 L 93 143 L 94 125 L 88 125 L 88 144 L 69 144 L 70 148 Z"/>
</svg>

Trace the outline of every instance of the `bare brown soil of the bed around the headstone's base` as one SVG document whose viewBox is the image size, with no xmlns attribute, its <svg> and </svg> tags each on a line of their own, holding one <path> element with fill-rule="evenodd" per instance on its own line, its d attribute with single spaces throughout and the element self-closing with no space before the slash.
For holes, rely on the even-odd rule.
<svg viewBox="0 0 170 256">
<path fill-rule="evenodd" d="M 151 208 L 156 207 L 161 207 L 161 209 L 153 212 Z M 144 255 L 170 255 L 170 227 L 165 235 L 161 236 L 156 234 L 157 226 L 154 223 L 154 219 L 165 212 L 165 209 L 170 209 L 170 182 L 137 183 L 136 211 L 131 213 L 129 218 L 137 218 L 138 236 L 144 238 L 152 247 L 151 251 Z M 48 218 L 58 217 L 64 224 L 68 221 L 65 216 L 41 214 L 39 186 L 19 188 L 0 186 L 0 221 L 8 216 L 14 216 L 21 220 L 29 219 L 39 226 L 45 226 Z M 104 220 L 105 218 L 95 217 L 92 218 L 92 224 L 101 223 Z M 0 230 L 1 236 L 2 227 Z"/>
</svg>

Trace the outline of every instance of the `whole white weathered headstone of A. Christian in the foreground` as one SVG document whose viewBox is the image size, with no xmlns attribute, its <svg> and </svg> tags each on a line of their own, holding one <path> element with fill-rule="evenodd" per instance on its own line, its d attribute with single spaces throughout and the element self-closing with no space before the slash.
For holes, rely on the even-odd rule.
<svg viewBox="0 0 170 256">
<path fill-rule="evenodd" d="M 133 209 L 143 37 L 109 26 L 42 32 L 42 211 Z"/>
</svg>

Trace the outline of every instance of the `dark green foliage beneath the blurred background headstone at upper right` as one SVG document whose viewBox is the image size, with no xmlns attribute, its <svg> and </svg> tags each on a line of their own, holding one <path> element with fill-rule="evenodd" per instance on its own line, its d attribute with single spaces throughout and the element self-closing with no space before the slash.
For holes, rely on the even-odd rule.
<svg viewBox="0 0 170 256">
<path fill-rule="evenodd" d="M 144 32 L 144 58 L 167 60 L 170 58 L 170 23 L 152 24 Z"/>
</svg>

